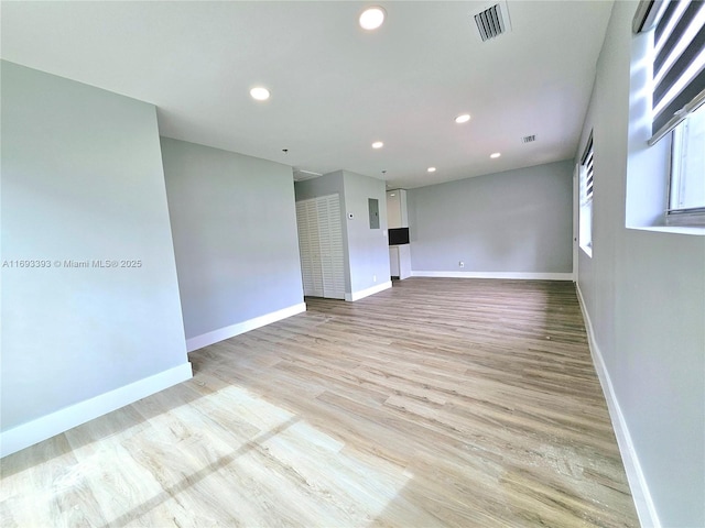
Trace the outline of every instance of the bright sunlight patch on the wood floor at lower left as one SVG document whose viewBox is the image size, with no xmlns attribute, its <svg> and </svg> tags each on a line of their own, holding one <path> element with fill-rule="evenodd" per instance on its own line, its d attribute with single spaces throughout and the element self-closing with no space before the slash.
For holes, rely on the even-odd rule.
<svg viewBox="0 0 705 528">
<path fill-rule="evenodd" d="M 73 451 L 43 452 L 36 465 L 4 477 L 3 526 L 306 526 L 312 518 L 360 526 L 410 479 L 391 463 L 373 468 L 345 452 L 343 442 L 243 388 L 226 386 L 188 405 L 169 398 L 135 403 L 151 418 L 99 442 L 86 441 L 90 424 L 67 431 Z M 162 405 L 167 410 L 156 411 Z"/>
</svg>

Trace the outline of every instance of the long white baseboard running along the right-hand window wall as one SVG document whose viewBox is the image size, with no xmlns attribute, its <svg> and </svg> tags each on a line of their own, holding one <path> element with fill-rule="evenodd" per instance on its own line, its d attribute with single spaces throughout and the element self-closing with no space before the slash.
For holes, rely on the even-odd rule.
<svg viewBox="0 0 705 528">
<path fill-rule="evenodd" d="M 583 310 L 583 319 L 585 319 L 590 355 L 593 356 L 597 377 L 603 386 L 603 393 L 605 394 L 605 400 L 607 402 L 607 409 L 609 410 L 609 418 L 612 422 L 612 428 L 615 429 L 617 444 L 619 446 L 621 460 L 625 464 L 625 472 L 627 473 L 627 480 L 629 481 L 629 488 L 631 490 L 631 497 L 634 502 L 634 507 L 637 508 L 637 515 L 639 515 L 639 521 L 641 526 L 644 527 L 661 528 L 661 521 L 659 520 L 655 505 L 651 498 L 649 485 L 647 484 L 643 471 L 641 470 L 639 457 L 637 455 L 637 450 L 634 449 L 631 435 L 629 433 L 629 428 L 627 427 L 627 420 L 625 419 L 625 415 L 621 413 L 621 407 L 619 407 L 619 402 L 617 400 L 617 395 L 615 394 L 609 372 L 605 365 L 603 353 L 599 350 L 597 340 L 595 339 L 593 321 L 590 320 L 590 316 L 585 307 L 585 299 L 583 298 L 583 293 L 581 292 L 581 287 L 577 282 L 575 283 L 575 289 L 577 290 L 581 310 Z"/>
</svg>

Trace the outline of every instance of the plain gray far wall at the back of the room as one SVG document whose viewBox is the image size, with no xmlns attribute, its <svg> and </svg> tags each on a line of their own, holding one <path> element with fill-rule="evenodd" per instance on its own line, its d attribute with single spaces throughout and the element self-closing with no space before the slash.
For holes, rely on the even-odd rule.
<svg viewBox="0 0 705 528">
<path fill-rule="evenodd" d="M 406 196 L 414 272 L 573 271 L 571 161 L 411 189 Z"/>
</svg>

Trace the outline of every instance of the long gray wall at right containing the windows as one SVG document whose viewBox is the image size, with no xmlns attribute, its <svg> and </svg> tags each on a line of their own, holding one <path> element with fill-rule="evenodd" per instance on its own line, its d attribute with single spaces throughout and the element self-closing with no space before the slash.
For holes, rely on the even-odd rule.
<svg viewBox="0 0 705 528">
<path fill-rule="evenodd" d="M 640 157 L 636 8 L 615 3 L 581 141 L 594 129 L 593 257 L 579 252 L 578 285 L 662 526 L 705 526 L 705 237 L 625 227 L 639 217 L 626 204 L 663 204 L 668 180 L 661 146 Z M 648 207 L 641 221 L 653 221 Z"/>
</svg>

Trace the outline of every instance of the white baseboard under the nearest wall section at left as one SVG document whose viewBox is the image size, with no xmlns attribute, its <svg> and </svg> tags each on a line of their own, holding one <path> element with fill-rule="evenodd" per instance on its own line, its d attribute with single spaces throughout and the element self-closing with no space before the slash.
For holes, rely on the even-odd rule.
<svg viewBox="0 0 705 528">
<path fill-rule="evenodd" d="M 65 407 L 0 433 L 0 457 L 59 435 L 86 421 L 124 407 L 154 393 L 193 377 L 191 363 L 174 366 L 153 376 Z"/>
</svg>

